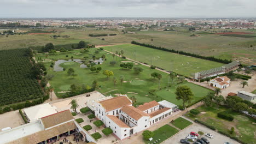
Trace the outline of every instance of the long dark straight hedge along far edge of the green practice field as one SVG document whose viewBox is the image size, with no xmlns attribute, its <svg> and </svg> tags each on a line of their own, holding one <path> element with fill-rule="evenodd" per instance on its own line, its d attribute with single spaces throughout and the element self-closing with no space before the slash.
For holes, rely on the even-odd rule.
<svg viewBox="0 0 256 144">
<path fill-rule="evenodd" d="M 211 57 L 200 56 L 200 55 L 197 55 L 197 54 L 195 54 L 195 53 L 189 53 L 189 52 L 184 52 L 184 51 L 176 51 L 176 50 L 173 50 L 173 49 L 166 49 L 166 48 L 164 48 L 164 47 L 158 47 L 158 46 L 149 45 L 149 44 L 144 44 L 144 43 L 142 44 L 142 43 L 138 43 L 138 42 L 136 42 L 136 41 L 132 41 L 131 43 L 132 43 L 132 44 L 135 44 L 135 45 L 146 46 L 146 47 L 150 47 L 150 48 L 157 49 L 157 50 L 162 50 L 162 51 L 168 51 L 168 52 L 178 53 L 178 54 L 185 55 L 185 56 L 191 56 L 191 57 L 206 59 L 206 60 L 209 60 L 209 61 L 214 61 L 214 62 L 219 62 L 219 63 L 228 64 L 228 63 L 232 62 L 231 60 L 227 60 L 227 59 L 215 58 L 215 57 L 213 57 L 213 56 L 211 56 Z"/>
</svg>

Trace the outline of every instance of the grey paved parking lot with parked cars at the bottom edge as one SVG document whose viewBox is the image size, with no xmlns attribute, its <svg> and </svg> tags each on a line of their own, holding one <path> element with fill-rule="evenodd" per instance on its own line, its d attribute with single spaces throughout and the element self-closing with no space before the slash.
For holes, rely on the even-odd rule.
<svg viewBox="0 0 256 144">
<path fill-rule="evenodd" d="M 208 141 L 210 141 L 210 143 L 212 144 L 223 144 L 224 142 L 230 142 L 232 144 L 238 144 L 239 142 L 230 139 L 229 137 L 226 137 L 222 134 L 217 133 L 216 131 L 213 131 L 203 125 L 194 123 L 193 125 L 190 125 L 188 128 L 185 128 L 184 130 L 180 131 L 178 134 L 174 135 L 173 137 L 171 137 L 170 139 L 167 139 L 166 141 L 162 142 L 162 143 L 168 143 L 168 144 L 177 144 L 177 143 L 181 143 L 180 140 L 181 139 L 185 139 L 185 137 L 188 136 L 188 134 L 190 134 L 191 131 L 194 132 L 198 132 L 198 131 L 202 131 L 203 133 L 210 133 L 213 135 L 213 139 L 210 139 L 209 137 L 206 137 L 206 139 Z M 199 136 L 200 138 L 200 136 Z M 192 142 L 191 142 L 192 143 Z"/>
</svg>

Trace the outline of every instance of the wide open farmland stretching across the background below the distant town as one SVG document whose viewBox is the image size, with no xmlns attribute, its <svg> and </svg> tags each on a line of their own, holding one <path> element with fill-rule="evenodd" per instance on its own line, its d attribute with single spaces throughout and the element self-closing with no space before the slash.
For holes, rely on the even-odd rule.
<svg viewBox="0 0 256 144">
<path fill-rule="evenodd" d="M 28 46 L 43 46 L 47 43 L 54 45 L 74 44 L 84 40 L 89 44 L 110 45 L 127 44 L 132 40 L 139 43 L 147 43 L 155 46 L 166 47 L 167 49 L 182 50 L 190 53 L 197 53 L 202 56 L 214 56 L 223 59 L 233 59 L 246 64 L 256 63 L 256 40 L 255 38 L 226 37 L 218 34 L 207 34 L 212 31 L 223 32 L 224 29 L 210 29 L 211 31 L 189 32 L 188 29 L 174 28 L 177 31 L 135 31 L 135 34 L 123 33 L 121 30 L 110 31 L 108 29 L 96 30 L 96 28 L 66 29 L 66 28 L 45 28 L 44 31 L 57 31 L 50 34 L 25 34 L 0 35 L 0 49 L 16 49 Z M 30 30 L 21 28 L 21 30 Z M 238 33 L 254 33 L 256 31 L 244 29 L 230 29 Z M 206 33 L 207 32 L 207 33 Z M 89 37 L 89 34 L 117 33 L 110 37 Z M 195 33 L 197 37 L 190 37 Z M 206 34 L 203 34 L 206 33 Z M 51 38 L 53 35 L 68 35 L 69 38 Z M 101 40 L 104 38 L 104 40 Z M 153 41 L 152 41 L 153 39 Z M 252 45 L 252 47 L 251 47 Z"/>
</svg>

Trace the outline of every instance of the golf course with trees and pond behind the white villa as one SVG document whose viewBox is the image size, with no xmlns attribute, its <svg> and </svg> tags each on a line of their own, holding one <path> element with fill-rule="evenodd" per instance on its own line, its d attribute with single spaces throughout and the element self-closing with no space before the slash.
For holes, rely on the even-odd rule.
<svg viewBox="0 0 256 144">
<path fill-rule="evenodd" d="M 124 51 L 125 55 L 126 51 Z M 36 59 L 37 61 L 43 62 L 47 68 L 48 75 L 53 76 L 49 82 L 59 98 L 62 98 L 67 92 L 75 91 L 75 89 L 95 88 L 96 91 L 104 95 L 111 94 L 115 97 L 121 93 L 127 94 L 129 97 L 135 96 L 136 105 L 152 100 L 160 101 L 165 99 L 179 105 L 182 103 L 182 100 L 177 101 L 174 95 L 170 97 L 169 94 L 174 94 L 177 85 L 187 85 L 190 87 L 195 95 L 194 100 L 204 97 L 207 93 L 206 91 L 210 91 L 192 83 L 187 83 L 184 80 L 174 79 L 174 86 L 170 88 L 170 91 L 165 92 L 168 83 L 168 74 L 150 69 L 141 64 L 133 64 L 132 68 L 129 68 L 129 65 L 127 65 L 129 61 L 127 59 L 113 56 L 106 51 L 96 48 L 86 49 L 86 51 L 85 49 L 75 49 L 73 51 L 56 52 L 50 55 L 38 53 Z M 89 65 L 90 68 L 82 67 L 84 65 L 88 66 L 90 64 L 89 61 L 97 61 L 98 59 L 104 59 L 105 61 L 101 61 L 100 64 Z M 60 60 L 65 61 L 59 64 L 61 70 L 54 71 L 56 62 Z M 122 67 L 120 67 L 120 64 L 123 64 Z M 69 71 L 69 69 L 72 70 Z M 106 75 L 107 73 L 110 75 Z M 159 73 L 161 75 L 160 80 L 152 77 L 152 73 Z M 161 91 L 159 91 L 159 83 Z M 73 86 L 71 87 L 71 85 Z"/>
</svg>

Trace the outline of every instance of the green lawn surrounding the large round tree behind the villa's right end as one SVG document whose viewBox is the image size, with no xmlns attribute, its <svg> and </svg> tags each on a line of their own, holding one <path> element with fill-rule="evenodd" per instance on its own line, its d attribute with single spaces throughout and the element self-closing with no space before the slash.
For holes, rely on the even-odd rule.
<svg viewBox="0 0 256 144">
<path fill-rule="evenodd" d="M 205 97 L 206 94 L 211 91 L 210 89 L 207 89 L 198 85 L 194 85 L 193 83 L 189 83 L 189 82 L 182 83 L 181 85 L 186 85 L 191 88 L 191 91 L 194 94 L 193 96 L 194 99 L 191 101 L 191 103 L 193 103 L 193 101 L 202 99 L 202 97 Z M 170 101 L 173 104 L 182 105 L 182 100 L 176 99 L 175 91 L 177 87 L 178 85 L 174 87 L 170 87 L 169 90 L 167 90 L 167 88 L 163 88 L 160 91 L 156 92 L 156 95 L 158 95 L 158 97 L 161 97 L 167 101 Z"/>
</svg>

